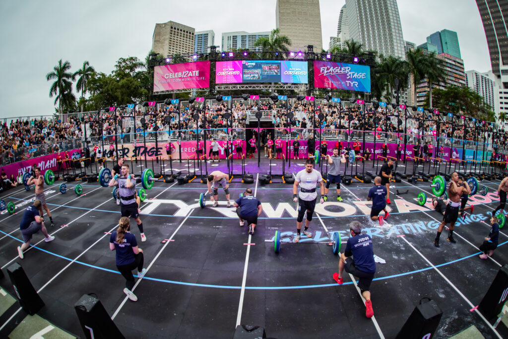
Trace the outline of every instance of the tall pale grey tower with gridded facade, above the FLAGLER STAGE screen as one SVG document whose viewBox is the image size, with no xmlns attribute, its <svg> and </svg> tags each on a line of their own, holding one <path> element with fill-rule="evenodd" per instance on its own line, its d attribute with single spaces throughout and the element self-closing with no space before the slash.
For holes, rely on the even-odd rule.
<svg viewBox="0 0 508 339">
<path fill-rule="evenodd" d="M 351 39 L 385 56 L 405 60 L 399 9 L 396 0 L 346 0 Z"/>
</svg>

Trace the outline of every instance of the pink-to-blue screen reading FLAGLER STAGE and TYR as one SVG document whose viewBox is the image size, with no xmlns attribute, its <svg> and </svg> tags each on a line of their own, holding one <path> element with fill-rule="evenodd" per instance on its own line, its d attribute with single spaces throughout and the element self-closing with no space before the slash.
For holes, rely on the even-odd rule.
<svg viewBox="0 0 508 339">
<path fill-rule="evenodd" d="M 370 67 L 332 61 L 314 61 L 314 87 L 370 93 Z"/>
</svg>

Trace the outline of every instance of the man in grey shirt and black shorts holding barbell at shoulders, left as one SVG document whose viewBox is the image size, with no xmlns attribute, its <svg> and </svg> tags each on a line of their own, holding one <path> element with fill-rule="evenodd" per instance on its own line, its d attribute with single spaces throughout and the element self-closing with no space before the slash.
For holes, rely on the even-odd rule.
<svg viewBox="0 0 508 339">
<path fill-rule="evenodd" d="M 128 164 L 122 165 L 120 175 L 115 174 L 111 180 L 109 180 L 108 186 L 118 186 L 121 216 L 131 217 L 136 220 L 139 232 L 141 233 L 141 241 L 146 241 L 145 233 L 143 233 L 143 222 L 139 218 L 139 206 L 136 202 L 136 180 L 134 179 L 134 174 L 129 174 Z"/>
</svg>

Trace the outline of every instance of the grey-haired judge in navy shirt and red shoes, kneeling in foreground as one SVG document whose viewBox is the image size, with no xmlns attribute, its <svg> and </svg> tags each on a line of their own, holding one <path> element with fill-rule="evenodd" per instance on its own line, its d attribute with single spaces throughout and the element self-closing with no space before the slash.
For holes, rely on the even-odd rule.
<svg viewBox="0 0 508 339">
<path fill-rule="evenodd" d="M 350 238 L 347 239 L 346 249 L 340 256 L 339 272 L 333 274 L 333 279 L 341 285 L 344 269 L 358 278 L 358 288 L 365 298 L 365 316 L 372 318 L 372 302 L 370 301 L 370 283 L 376 272 L 372 239 L 368 234 L 362 234 L 362 224 L 358 221 L 350 223 Z"/>
</svg>

